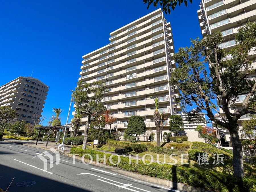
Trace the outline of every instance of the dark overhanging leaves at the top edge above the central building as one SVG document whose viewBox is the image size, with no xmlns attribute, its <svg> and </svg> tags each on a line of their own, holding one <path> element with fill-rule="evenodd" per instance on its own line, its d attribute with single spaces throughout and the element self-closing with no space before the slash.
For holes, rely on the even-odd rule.
<svg viewBox="0 0 256 192">
<path fill-rule="evenodd" d="M 175 9 L 175 7 L 177 5 L 181 5 L 181 3 L 185 4 L 185 6 L 187 7 L 187 0 L 143 0 L 144 4 L 148 4 L 147 9 L 149 8 L 149 6 L 153 3 L 154 7 L 158 6 L 158 3 L 160 4 L 160 6 L 162 7 L 162 11 L 164 11 L 165 14 L 167 14 L 167 12 L 170 14 L 171 13 L 171 9 L 172 10 Z M 189 0 L 190 3 L 192 3 L 192 0 Z"/>
</svg>

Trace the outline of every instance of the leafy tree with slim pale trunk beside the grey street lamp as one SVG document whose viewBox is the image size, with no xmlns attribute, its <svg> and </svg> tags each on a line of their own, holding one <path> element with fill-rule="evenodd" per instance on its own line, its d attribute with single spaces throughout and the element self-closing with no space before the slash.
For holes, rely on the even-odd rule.
<svg viewBox="0 0 256 192">
<path fill-rule="evenodd" d="M 106 111 L 106 107 L 101 104 L 102 99 L 108 93 L 105 82 L 100 80 L 92 83 L 77 82 L 76 90 L 72 94 L 73 102 L 81 107 L 81 112 L 88 115 L 88 120 L 84 129 L 83 149 L 86 148 L 88 129 L 90 123 L 97 119 L 98 115 Z"/>
</svg>

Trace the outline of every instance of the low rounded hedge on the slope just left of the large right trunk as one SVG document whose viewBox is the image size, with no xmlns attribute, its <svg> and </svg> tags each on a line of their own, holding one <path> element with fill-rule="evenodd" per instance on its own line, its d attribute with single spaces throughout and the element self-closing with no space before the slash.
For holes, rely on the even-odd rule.
<svg viewBox="0 0 256 192">
<path fill-rule="evenodd" d="M 233 154 L 230 154 L 224 150 L 217 149 L 214 145 L 210 145 L 208 143 L 203 143 L 203 142 L 193 142 L 192 149 L 202 151 L 204 153 L 208 154 L 223 154 L 223 157 L 225 159 L 232 159 Z"/>
</svg>

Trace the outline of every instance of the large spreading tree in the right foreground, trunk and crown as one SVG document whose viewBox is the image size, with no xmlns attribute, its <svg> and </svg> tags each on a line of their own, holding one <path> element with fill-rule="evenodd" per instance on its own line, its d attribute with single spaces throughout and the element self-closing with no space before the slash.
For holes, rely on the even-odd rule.
<svg viewBox="0 0 256 192">
<path fill-rule="evenodd" d="M 247 78 L 251 72 L 255 73 L 249 57 L 256 46 L 256 24 L 247 23 L 238 31 L 235 35 L 236 45 L 229 53 L 220 47 L 221 43 L 227 41 L 221 32 L 215 32 L 202 40 L 197 38 L 191 41 L 192 46 L 180 48 L 174 55 L 178 67 L 171 75 L 170 84 L 177 85 L 181 90 L 177 102 L 183 112 L 189 115 L 187 106 L 195 105 L 196 112 L 192 115 L 199 115 L 204 110 L 203 114 L 210 121 L 229 130 L 234 153 L 234 176 L 243 178 L 243 150 L 237 121 L 245 114 L 256 114 L 255 109 L 250 107 L 250 101 L 256 100 L 256 81 Z M 228 54 L 232 60 L 227 59 Z M 206 66 L 210 67 L 210 73 Z M 236 106 L 239 94 L 245 94 L 241 108 Z M 213 101 L 216 99 L 218 108 L 225 115 L 216 109 Z M 220 119 L 214 116 L 214 111 L 219 113 Z"/>
</svg>

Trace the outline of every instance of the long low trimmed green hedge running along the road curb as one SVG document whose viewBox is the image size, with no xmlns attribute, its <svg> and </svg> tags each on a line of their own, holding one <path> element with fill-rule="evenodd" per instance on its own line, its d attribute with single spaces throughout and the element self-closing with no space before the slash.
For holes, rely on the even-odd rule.
<svg viewBox="0 0 256 192">
<path fill-rule="evenodd" d="M 93 161 L 96 161 L 97 154 L 99 155 L 99 158 L 103 158 L 105 153 L 96 150 L 71 148 L 70 154 L 79 154 L 80 157 L 84 154 L 90 154 L 92 155 Z M 206 188 L 221 192 L 255 191 L 256 189 L 256 181 L 253 179 L 239 180 L 230 174 L 224 174 L 214 170 L 173 166 L 170 164 L 159 165 L 154 162 L 150 165 L 146 165 L 141 160 L 139 160 L 139 164 L 136 164 L 136 160 L 131 160 L 131 164 L 129 164 L 129 157 L 123 156 L 120 156 L 120 163 L 114 165 L 110 163 L 109 160 L 111 154 L 105 155 L 106 164 L 109 166 L 117 167 L 141 175 L 148 175 L 159 179 L 174 181 L 176 183 L 184 183 L 194 187 Z M 88 155 L 84 156 L 84 158 L 90 159 Z M 112 162 L 117 163 L 117 161 L 117 156 L 112 156 Z M 103 163 L 103 160 L 99 160 L 99 162 Z"/>
</svg>

